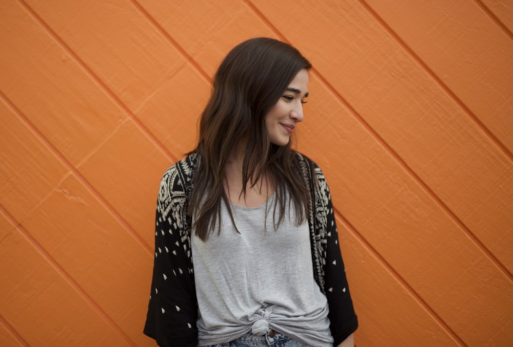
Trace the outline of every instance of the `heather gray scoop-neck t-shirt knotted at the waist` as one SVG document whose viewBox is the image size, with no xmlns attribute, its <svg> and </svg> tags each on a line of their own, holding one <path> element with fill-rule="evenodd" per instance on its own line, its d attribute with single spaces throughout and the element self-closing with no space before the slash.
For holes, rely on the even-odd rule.
<svg viewBox="0 0 513 347">
<path fill-rule="evenodd" d="M 272 329 L 312 346 L 332 346 L 326 296 L 313 278 L 308 222 L 298 226 L 290 205 L 274 230 L 274 199 L 275 193 L 255 208 L 231 205 L 240 234 L 224 203 L 219 236 L 216 230 L 203 242 L 192 233 L 200 345 Z"/>
</svg>

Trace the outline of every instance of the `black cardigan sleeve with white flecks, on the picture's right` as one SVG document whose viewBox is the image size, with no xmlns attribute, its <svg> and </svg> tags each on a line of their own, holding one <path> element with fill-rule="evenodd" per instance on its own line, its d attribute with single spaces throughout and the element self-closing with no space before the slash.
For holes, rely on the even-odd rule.
<svg viewBox="0 0 513 347">
<path fill-rule="evenodd" d="M 318 179 L 318 199 L 321 199 L 317 206 L 324 210 L 322 214 L 326 216 L 325 222 L 322 223 L 326 223 L 324 226 L 326 228 L 324 289 L 328 300 L 328 317 L 331 335 L 334 339 L 333 345 L 337 346 L 357 330 L 358 318 L 354 312 L 349 292 L 329 188 L 321 169 L 315 167 L 315 172 Z"/>
</svg>

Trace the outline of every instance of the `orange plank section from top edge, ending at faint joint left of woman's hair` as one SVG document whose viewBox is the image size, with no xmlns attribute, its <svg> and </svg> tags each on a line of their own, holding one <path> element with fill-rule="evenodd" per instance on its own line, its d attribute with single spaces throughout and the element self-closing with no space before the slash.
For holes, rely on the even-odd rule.
<svg viewBox="0 0 513 347">
<path fill-rule="evenodd" d="M 178 52 L 127 1 L 27 4 L 132 111 L 183 64 Z"/>
</svg>

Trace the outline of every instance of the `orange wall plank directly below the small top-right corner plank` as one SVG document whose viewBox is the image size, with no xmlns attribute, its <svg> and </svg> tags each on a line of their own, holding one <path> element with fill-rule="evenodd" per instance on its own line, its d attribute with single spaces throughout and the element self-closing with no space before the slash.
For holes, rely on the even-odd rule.
<svg viewBox="0 0 513 347">
<path fill-rule="evenodd" d="M 511 37 L 473 2 L 367 3 L 511 153 Z"/>
</svg>

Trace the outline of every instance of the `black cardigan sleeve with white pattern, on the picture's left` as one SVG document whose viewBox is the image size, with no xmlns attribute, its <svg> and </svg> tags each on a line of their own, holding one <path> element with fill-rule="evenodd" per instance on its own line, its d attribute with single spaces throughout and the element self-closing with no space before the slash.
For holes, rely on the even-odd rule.
<svg viewBox="0 0 513 347">
<path fill-rule="evenodd" d="M 155 216 L 153 278 L 144 334 L 160 346 L 198 344 L 186 193 L 176 166 L 164 174 Z"/>
</svg>

